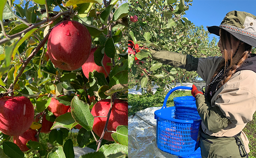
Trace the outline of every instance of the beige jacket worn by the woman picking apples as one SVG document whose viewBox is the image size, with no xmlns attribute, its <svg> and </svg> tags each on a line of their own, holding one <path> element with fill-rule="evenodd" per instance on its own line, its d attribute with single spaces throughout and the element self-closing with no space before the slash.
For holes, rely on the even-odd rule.
<svg viewBox="0 0 256 158">
<path fill-rule="evenodd" d="M 199 58 L 197 73 L 210 83 L 213 73 L 216 71 L 222 57 Z M 206 87 L 206 92 L 207 92 Z M 230 120 L 228 126 L 221 131 L 210 132 L 202 123 L 204 133 L 216 137 L 232 137 L 238 134 L 245 127 L 247 122 L 253 119 L 256 110 L 256 73 L 251 70 L 236 72 L 227 83 L 225 83 L 213 96 L 212 107 L 218 106 L 224 116 Z M 250 152 L 248 138 L 242 132 L 242 140 L 245 149 Z"/>
</svg>

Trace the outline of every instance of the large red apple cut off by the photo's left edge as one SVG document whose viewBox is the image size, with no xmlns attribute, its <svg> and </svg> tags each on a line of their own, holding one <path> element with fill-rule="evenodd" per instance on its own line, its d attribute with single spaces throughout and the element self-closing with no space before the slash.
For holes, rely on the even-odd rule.
<svg viewBox="0 0 256 158">
<path fill-rule="evenodd" d="M 6 135 L 20 135 L 27 131 L 34 119 L 34 106 L 24 96 L 0 98 L 0 131 Z"/>
</svg>

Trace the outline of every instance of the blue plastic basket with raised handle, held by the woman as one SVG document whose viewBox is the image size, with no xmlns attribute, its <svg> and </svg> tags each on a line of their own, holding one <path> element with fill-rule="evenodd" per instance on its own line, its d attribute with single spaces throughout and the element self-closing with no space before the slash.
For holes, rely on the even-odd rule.
<svg viewBox="0 0 256 158">
<path fill-rule="evenodd" d="M 196 108 L 174 106 L 166 108 L 166 102 L 177 89 L 192 89 L 179 86 L 171 89 L 165 97 L 163 107 L 154 112 L 157 119 L 157 147 L 163 152 L 187 156 L 199 147 L 201 118 Z"/>
</svg>

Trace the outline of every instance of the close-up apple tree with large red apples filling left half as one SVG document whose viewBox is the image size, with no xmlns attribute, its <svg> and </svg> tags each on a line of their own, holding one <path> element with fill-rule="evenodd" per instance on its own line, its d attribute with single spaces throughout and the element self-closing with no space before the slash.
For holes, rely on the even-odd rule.
<svg viewBox="0 0 256 158">
<path fill-rule="evenodd" d="M 128 20 L 125 0 L 1 1 L 1 158 L 127 157 Z"/>
</svg>

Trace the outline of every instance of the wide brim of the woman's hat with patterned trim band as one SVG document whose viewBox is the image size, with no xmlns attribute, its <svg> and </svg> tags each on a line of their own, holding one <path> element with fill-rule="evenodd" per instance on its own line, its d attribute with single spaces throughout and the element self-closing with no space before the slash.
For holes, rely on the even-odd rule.
<svg viewBox="0 0 256 158">
<path fill-rule="evenodd" d="M 256 47 L 256 39 L 254 38 L 251 38 L 249 36 L 246 36 L 246 35 L 242 35 L 240 33 L 237 33 L 237 32 L 233 32 L 231 30 L 228 30 L 228 29 L 225 29 L 225 28 L 222 28 L 222 27 L 219 27 L 219 26 L 207 26 L 207 29 L 210 33 L 213 33 L 217 36 L 219 36 L 219 29 L 223 29 L 223 30 L 226 30 L 227 32 L 229 32 L 231 35 L 235 36 L 235 38 L 239 39 L 240 41 L 244 42 L 244 43 L 247 43 L 253 47 Z"/>
</svg>

